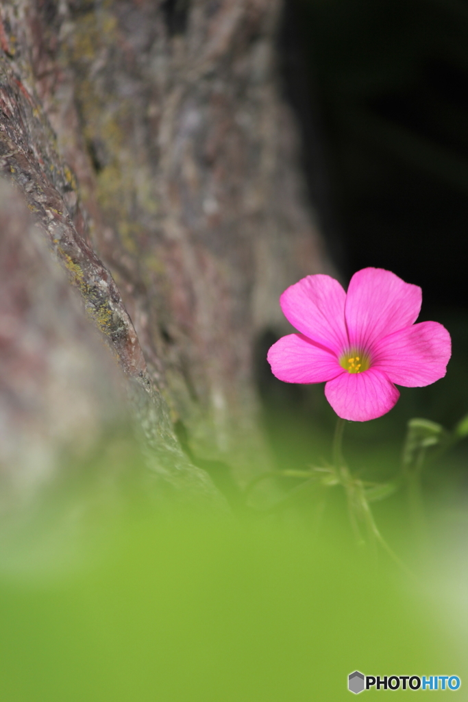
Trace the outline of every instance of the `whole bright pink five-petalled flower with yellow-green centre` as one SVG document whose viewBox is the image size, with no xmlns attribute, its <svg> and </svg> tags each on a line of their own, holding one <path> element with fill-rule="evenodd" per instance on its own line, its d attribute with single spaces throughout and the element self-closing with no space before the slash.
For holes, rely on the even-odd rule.
<svg viewBox="0 0 468 702">
<path fill-rule="evenodd" d="M 421 301 L 417 285 L 382 268 L 359 270 L 347 293 L 329 275 L 308 275 L 281 295 L 300 333 L 270 348 L 272 371 L 286 383 L 325 381 L 343 419 L 381 417 L 400 396 L 394 383 L 421 388 L 446 374 L 450 334 L 438 322 L 414 324 Z"/>
</svg>

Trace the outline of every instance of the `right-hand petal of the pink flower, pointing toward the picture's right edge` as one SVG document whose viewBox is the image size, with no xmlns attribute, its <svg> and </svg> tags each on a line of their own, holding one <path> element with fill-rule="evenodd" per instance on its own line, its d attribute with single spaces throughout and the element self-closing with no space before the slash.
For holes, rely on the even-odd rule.
<svg viewBox="0 0 468 702">
<path fill-rule="evenodd" d="M 446 374 L 452 353 L 450 334 L 439 322 L 421 322 L 380 339 L 373 348 L 372 367 L 392 383 L 422 388 Z"/>
</svg>

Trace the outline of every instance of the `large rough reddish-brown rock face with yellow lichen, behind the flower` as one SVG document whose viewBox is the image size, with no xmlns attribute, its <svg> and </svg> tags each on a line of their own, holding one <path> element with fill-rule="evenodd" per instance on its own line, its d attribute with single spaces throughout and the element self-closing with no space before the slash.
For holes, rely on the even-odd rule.
<svg viewBox="0 0 468 702">
<path fill-rule="evenodd" d="M 330 270 L 276 75 L 280 5 L 0 5 L 0 172 L 131 379 L 149 444 L 178 453 L 179 423 L 240 484 L 267 460 L 255 338 L 281 330 L 288 284 Z"/>
</svg>

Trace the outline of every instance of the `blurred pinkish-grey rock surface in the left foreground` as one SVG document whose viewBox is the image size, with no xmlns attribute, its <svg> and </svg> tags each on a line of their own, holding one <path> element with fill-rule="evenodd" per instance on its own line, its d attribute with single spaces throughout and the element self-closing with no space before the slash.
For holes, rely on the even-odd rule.
<svg viewBox="0 0 468 702">
<path fill-rule="evenodd" d="M 115 371 L 115 369 L 114 369 Z M 86 455 L 121 423 L 107 353 L 25 203 L 0 183 L 1 505 L 50 475 L 62 453 Z M 12 470 L 13 469 L 13 470 Z"/>
</svg>

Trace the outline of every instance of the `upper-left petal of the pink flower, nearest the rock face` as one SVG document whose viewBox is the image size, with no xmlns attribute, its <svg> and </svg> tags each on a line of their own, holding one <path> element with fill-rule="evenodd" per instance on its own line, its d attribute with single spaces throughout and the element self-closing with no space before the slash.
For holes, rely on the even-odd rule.
<svg viewBox="0 0 468 702">
<path fill-rule="evenodd" d="M 286 289 L 279 303 L 284 316 L 305 336 L 339 356 L 347 347 L 346 293 L 329 275 L 308 275 Z"/>
</svg>

